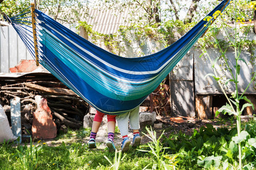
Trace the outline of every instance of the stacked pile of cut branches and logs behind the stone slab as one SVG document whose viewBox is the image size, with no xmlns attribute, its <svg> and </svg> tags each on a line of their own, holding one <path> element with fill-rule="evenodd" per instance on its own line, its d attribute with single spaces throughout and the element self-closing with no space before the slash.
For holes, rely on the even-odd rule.
<svg viewBox="0 0 256 170">
<path fill-rule="evenodd" d="M 0 104 L 3 105 L 9 122 L 11 122 L 10 100 L 20 97 L 23 135 L 31 134 L 33 113 L 37 108 L 36 95 L 47 99 L 57 130 L 65 130 L 67 127 L 71 129 L 82 127 L 83 118 L 89 111 L 88 103 L 51 74 L 26 76 L 0 78 Z"/>
</svg>

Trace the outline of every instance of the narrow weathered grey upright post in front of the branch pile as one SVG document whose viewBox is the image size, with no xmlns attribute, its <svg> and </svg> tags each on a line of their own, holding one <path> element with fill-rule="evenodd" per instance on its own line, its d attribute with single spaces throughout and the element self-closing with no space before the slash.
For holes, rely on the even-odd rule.
<svg viewBox="0 0 256 170">
<path fill-rule="evenodd" d="M 11 130 L 16 137 L 19 137 L 19 143 L 22 142 L 20 116 L 20 98 L 15 97 L 11 99 Z"/>
</svg>

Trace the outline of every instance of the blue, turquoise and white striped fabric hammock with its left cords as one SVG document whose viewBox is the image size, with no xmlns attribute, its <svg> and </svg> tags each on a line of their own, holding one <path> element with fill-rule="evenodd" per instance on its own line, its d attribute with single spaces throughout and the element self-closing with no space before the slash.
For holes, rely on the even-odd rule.
<svg viewBox="0 0 256 170">
<path fill-rule="evenodd" d="M 39 63 L 98 111 L 122 114 L 138 107 L 158 87 L 230 1 L 222 1 L 208 20 L 201 20 L 174 44 L 138 58 L 109 53 L 35 10 Z M 32 27 L 20 19 L 27 13 L 5 18 L 35 57 Z"/>
</svg>

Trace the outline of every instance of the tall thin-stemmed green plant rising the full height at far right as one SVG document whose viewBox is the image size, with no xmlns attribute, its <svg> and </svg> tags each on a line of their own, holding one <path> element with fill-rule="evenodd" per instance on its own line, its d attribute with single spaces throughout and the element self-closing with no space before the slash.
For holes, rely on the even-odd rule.
<svg viewBox="0 0 256 170">
<path fill-rule="evenodd" d="M 247 137 L 249 137 L 249 134 L 247 133 L 247 131 L 241 130 L 241 114 L 242 114 L 243 110 L 246 107 L 252 107 L 254 109 L 253 104 L 251 103 L 251 101 L 249 99 L 247 99 L 246 96 L 244 96 L 244 94 L 245 94 L 247 88 L 250 86 L 250 84 L 254 81 L 256 73 L 254 73 L 254 75 L 251 78 L 250 83 L 247 85 L 247 87 L 242 92 L 242 94 L 241 95 L 238 94 L 238 86 L 240 85 L 239 82 L 238 82 L 238 76 L 240 76 L 240 70 L 242 69 L 241 66 L 240 66 L 240 63 L 241 62 L 246 63 L 245 59 L 243 59 L 241 57 L 241 50 L 242 50 L 241 47 L 246 42 L 245 41 L 246 36 L 244 36 L 243 39 L 240 39 L 240 37 L 238 37 L 239 29 L 237 28 L 237 22 L 242 23 L 244 19 L 241 20 L 239 17 L 237 17 L 237 12 L 238 12 L 238 10 L 237 10 L 237 1 L 234 1 L 234 15 L 235 15 L 234 16 L 234 18 L 235 18 L 234 31 L 235 31 L 235 36 L 234 36 L 234 38 L 228 36 L 228 39 L 229 39 L 229 42 L 231 43 L 231 45 L 226 47 L 226 49 L 222 49 L 222 47 L 220 46 L 220 42 L 217 39 L 215 39 L 215 42 L 216 42 L 218 48 L 220 49 L 220 52 L 222 53 L 221 57 L 224 58 L 225 64 L 228 68 L 228 71 L 232 75 L 232 78 L 226 80 L 225 84 L 228 84 L 229 82 L 233 82 L 234 86 L 236 87 L 236 90 L 234 92 L 232 92 L 232 95 L 230 97 L 228 97 L 228 95 L 226 94 L 226 92 L 224 90 L 224 86 L 221 83 L 220 76 L 217 74 L 216 68 L 214 67 L 214 65 L 216 65 L 216 63 L 217 63 L 218 58 L 216 58 L 214 61 L 212 61 L 210 59 L 210 56 L 209 56 L 208 53 L 207 53 L 207 56 L 208 56 L 210 62 L 212 63 L 212 68 L 213 68 L 213 71 L 214 71 L 214 74 L 208 74 L 208 75 L 213 76 L 213 78 L 220 85 L 221 91 L 224 93 L 226 99 L 228 100 L 228 103 L 226 105 L 224 105 L 220 109 L 218 109 L 218 111 L 216 112 L 216 116 L 219 113 L 222 112 L 224 114 L 228 113 L 229 115 L 234 115 L 237 118 L 237 136 L 233 137 L 232 140 L 234 141 L 234 143 L 238 144 L 239 169 L 242 169 L 242 147 L 241 147 L 241 143 L 243 141 L 245 141 Z M 224 30 L 225 30 L 225 28 L 224 28 Z M 228 32 L 226 32 L 226 33 L 227 33 L 227 35 L 229 35 Z M 228 48 L 230 48 L 230 47 L 232 47 L 234 49 L 234 59 L 236 61 L 236 65 L 234 66 L 236 70 L 234 71 L 234 73 L 231 69 L 231 66 L 228 63 L 229 59 L 225 55 L 226 50 L 228 50 Z M 206 51 L 206 49 L 204 49 L 204 50 Z M 247 65 L 247 63 L 246 63 L 246 65 Z M 247 101 L 247 103 L 243 104 L 242 107 L 240 108 L 241 100 L 245 100 L 245 101 Z"/>
</svg>

